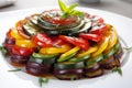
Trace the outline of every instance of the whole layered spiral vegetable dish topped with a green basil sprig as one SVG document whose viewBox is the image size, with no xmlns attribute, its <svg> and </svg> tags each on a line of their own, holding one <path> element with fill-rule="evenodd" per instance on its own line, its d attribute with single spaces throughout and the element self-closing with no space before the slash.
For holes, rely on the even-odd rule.
<svg viewBox="0 0 132 88">
<path fill-rule="evenodd" d="M 52 74 L 64 80 L 120 67 L 123 51 L 116 29 L 98 15 L 74 10 L 77 4 L 58 2 L 61 10 L 32 14 L 9 30 L 3 47 L 11 64 L 34 76 Z"/>
</svg>

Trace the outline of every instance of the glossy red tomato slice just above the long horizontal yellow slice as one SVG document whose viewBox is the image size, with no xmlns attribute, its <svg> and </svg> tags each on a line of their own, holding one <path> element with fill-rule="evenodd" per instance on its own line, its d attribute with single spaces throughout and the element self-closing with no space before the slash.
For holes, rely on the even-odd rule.
<svg viewBox="0 0 132 88">
<path fill-rule="evenodd" d="M 32 37 L 32 42 L 41 47 L 53 46 L 53 42 L 45 33 L 38 33 Z"/>
</svg>

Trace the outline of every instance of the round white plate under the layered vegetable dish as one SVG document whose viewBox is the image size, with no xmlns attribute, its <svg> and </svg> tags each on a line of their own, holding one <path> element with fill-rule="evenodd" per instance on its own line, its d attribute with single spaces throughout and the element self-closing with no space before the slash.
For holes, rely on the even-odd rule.
<svg viewBox="0 0 132 88">
<path fill-rule="evenodd" d="M 41 12 L 55 7 L 45 7 L 38 9 L 19 10 L 13 12 L 0 13 L 0 44 L 6 37 L 6 32 L 14 26 L 18 20 L 24 19 L 35 12 Z M 110 13 L 88 8 L 78 8 L 91 14 L 98 14 L 105 19 L 107 23 L 112 24 L 117 31 L 123 45 L 132 46 L 132 20 L 119 14 Z M 132 54 L 127 54 L 124 58 L 122 72 L 123 76 L 108 74 L 94 79 L 81 79 L 76 81 L 66 81 L 58 79 L 50 79 L 48 84 L 44 84 L 42 88 L 131 88 L 132 87 Z M 38 88 L 37 77 L 28 75 L 23 72 L 9 73 L 13 69 L 0 53 L 0 88 Z"/>
</svg>

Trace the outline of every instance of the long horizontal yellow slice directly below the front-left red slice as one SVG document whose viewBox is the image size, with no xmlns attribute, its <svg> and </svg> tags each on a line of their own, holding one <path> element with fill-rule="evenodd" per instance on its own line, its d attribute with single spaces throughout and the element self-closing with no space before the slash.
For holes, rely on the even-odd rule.
<svg viewBox="0 0 132 88">
<path fill-rule="evenodd" d="M 62 45 L 61 47 L 43 47 L 40 50 L 41 54 L 58 54 L 69 51 L 72 46 L 69 44 Z"/>
</svg>

